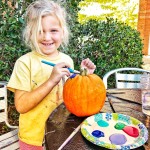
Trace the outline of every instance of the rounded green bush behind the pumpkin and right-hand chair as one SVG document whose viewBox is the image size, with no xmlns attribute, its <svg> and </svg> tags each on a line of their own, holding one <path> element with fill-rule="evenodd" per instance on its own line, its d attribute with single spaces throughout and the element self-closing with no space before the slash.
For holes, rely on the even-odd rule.
<svg viewBox="0 0 150 150">
<path fill-rule="evenodd" d="M 137 30 L 125 23 L 89 21 L 82 26 L 78 49 L 72 50 L 74 59 L 89 57 L 96 64 L 96 74 L 103 77 L 112 69 L 141 67 L 142 40 Z"/>
</svg>

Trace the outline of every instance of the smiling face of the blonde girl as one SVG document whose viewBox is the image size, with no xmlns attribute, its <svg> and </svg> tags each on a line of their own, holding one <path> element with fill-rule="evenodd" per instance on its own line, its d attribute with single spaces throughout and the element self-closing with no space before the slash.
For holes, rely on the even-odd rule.
<svg viewBox="0 0 150 150">
<path fill-rule="evenodd" d="M 60 22 L 57 17 L 47 15 L 42 17 L 41 25 L 42 32 L 37 37 L 39 48 L 44 55 L 56 57 L 63 38 Z"/>
</svg>

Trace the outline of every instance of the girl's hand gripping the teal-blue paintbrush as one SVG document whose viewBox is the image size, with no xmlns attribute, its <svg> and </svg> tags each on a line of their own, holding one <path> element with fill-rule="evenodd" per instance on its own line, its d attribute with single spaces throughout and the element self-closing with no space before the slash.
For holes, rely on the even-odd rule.
<svg viewBox="0 0 150 150">
<path fill-rule="evenodd" d="M 50 75 L 50 78 L 49 80 L 51 82 L 54 83 L 54 85 L 58 84 L 59 81 L 61 80 L 61 78 L 63 76 L 70 76 L 71 73 L 70 71 L 67 69 L 68 67 L 70 67 L 67 63 L 65 62 L 62 62 L 62 63 L 58 63 L 54 66 L 53 70 L 52 70 L 52 73 Z"/>
</svg>

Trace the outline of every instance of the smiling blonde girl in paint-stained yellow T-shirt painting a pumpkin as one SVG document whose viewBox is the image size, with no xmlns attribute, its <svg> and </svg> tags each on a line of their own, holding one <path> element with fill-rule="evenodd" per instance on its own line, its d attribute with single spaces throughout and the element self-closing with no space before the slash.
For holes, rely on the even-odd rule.
<svg viewBox="0 0 150 150">
<path fill-rule="evenodd" d="M 50 0 L 38 0 L 27 8 L 25 42 L 32 52 L 20 57 L 14 66 L 8 89 L 15 93 L 15 106 L 20 113 L 19 143 L 21 150 L 42 150 L 45 123 L 50 113 L 63 102 L 62 77 L 71 74 L 73 60 L 58 51 L 67 45 L 65 11 Z M 55 63 L 54 67 L 41 63 Z M 95 65 L 87 58 L 81 66 L 93 73 Z"/>
</svg>

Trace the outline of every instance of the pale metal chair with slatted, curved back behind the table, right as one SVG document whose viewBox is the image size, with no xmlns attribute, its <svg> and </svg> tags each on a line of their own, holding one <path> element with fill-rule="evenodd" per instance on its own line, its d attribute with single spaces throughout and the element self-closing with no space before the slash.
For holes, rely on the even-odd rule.
<svg viewBox="0 0 150 150">
<path fill-rule="evenodd" d="M 127 73 L 134 71 L 134 73 Z M 137 73 L 138 72 L 138 73 Z M 108 78 L 114 74 L 116 80 L 116 88 L 140 88 L 140 77 L 143 72 L 150 73 L 148 70 L 141 68 L 118 68 L 107 72 L 103 77 L 105 88 L 108 88 Z"/>
</svg>

